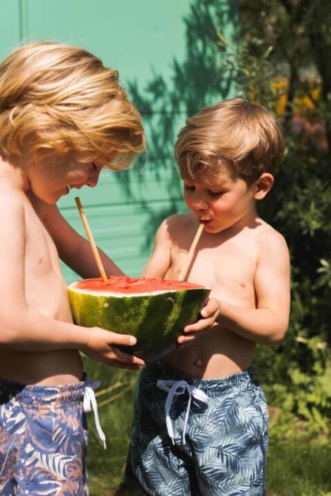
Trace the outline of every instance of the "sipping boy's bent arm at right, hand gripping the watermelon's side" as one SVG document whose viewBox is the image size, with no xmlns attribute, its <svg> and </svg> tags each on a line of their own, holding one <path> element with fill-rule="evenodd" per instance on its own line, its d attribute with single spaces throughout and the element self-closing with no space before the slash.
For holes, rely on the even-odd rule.
<svg viewBox="0 0 331 496">
<path fill-rule="evenodd" d="M 254 287 L 256 309 L 245 309 L 211 298 L 202 310 L 202 320 L 187 326 L 185 333 L 210 327 L 214 322 L 254 342 L 273 345 L 282 340 L 289 322 L 289 252 L 285 239 L 277 232 L 260 236 L 260 257 Z M 217 308 L 218 306 L 218 308 Z M 193 336 L 188 336 L 193 338 Z M 179 338 L 179 343 L 190 339 Z"/>
</svg>

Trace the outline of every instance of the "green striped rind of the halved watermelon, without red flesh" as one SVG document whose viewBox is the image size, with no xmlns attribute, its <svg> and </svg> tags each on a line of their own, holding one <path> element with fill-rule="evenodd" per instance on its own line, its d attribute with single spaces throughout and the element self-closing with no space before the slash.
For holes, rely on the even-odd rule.
<svg viewBox="0 0 331 496">
<path fill-rule="evenodd" d="M 75 324 L 102 327 L 137 338 L 125 351 L 146 361 L 161 358 L 175 348 L 186 325 L 199 318 L 208 299 L 209 288 L 190 288 L 140 295 L 102 295 L 68 288 Z"/>
</svg>

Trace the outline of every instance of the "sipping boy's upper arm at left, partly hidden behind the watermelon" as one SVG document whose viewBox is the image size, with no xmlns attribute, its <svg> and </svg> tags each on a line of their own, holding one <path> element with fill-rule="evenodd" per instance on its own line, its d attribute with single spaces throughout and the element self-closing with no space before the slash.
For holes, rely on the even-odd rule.
<svg viewBox="0 0 331 496">
<path fill-rule="evenodd" d="M 154 249 L 143 270 L 143 277 L 163 279 L 170 267 L 170 239 L 168 235 L 168 219 L 165 219 L 156 232 Z"/>
</svg>

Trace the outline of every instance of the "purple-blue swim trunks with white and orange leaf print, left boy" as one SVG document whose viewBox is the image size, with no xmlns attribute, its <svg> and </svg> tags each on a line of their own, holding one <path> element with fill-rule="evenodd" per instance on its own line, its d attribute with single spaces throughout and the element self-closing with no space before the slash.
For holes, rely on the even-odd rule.
<svg viewBox="0 0 331 496">
<path fill-rule="evenodd" d="M 1 495 L 88 495 L 85 385 L 0 378 Z"/>
</svg>

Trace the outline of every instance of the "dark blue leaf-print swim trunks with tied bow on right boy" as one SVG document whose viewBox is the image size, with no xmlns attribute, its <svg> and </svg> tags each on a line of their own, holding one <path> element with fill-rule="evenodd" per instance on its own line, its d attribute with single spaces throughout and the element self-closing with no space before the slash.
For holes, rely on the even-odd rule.
<svg viewBox="0 0 331 496">
<path fill-rule="evenodd" d="M 147 364 L 127 475 L 150 496 L 265 496 L 268 410 L 251 371 L 197 379 Z"/>
</svg>

